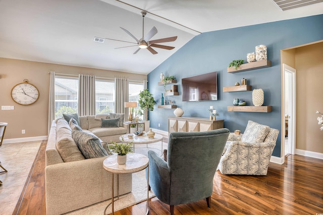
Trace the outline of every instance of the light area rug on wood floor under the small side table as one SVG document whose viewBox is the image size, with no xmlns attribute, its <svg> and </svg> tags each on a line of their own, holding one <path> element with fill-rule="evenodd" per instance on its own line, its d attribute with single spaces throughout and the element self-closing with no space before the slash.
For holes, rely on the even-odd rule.
<svg viewBox="0 0 323 215">
<path fill-rule="evenodd" d="M 154 193 L 150 190 L 149 191 L 149 198 L 152 198 L 154 196 L 155 196 Z M 145 170 L 142 170 L 140 172 L 132 174 L 132 192 L 121 195 L 119 197 L 119 200 L 116 200 L 116 198 L 115 198 L 115 201 L 114 201 L 115 211 L 121 210 L 121 209 L 129 207 L 131 205 L 138 204 L 138 203 L 140 203 L 142 201 L 146 201 L 146 200 L 147 200 L 146 172 L 145 172 Z M 106 201 L 101 201 L 96 204 L 92 204 L 87 207 L 83 207 L 78 210 L 73 210 L 73 211 L 65 213 L 65 214 L 69 214 L 69 215 L 79 215 L 79 214 L 96 215 L 96 214 L 98 214 L 98 215 L 102 215 L 106 205 L 108 205 L 109 203 L 111 203 L 110 199 L 108 199 Z M 112 213 L 111 204 L 106 209 L 106 214 L 110 214 L 110 213 Z"/>
</svg>

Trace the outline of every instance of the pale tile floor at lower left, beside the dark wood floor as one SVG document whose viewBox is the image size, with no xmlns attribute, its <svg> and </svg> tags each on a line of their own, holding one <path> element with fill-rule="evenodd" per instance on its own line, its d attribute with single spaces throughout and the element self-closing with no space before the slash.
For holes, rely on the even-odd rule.
<svg viewBox="0 0 323 215">
<path fill-rule="evenodd" d="M 3 144 L 0 148 L 0 161 L 8 170 L 0 173 L 3 182 L 0 186 L 1 215 L 13 213 L 40 144 L 41 140 L 15 142 Z"/>
</svg>

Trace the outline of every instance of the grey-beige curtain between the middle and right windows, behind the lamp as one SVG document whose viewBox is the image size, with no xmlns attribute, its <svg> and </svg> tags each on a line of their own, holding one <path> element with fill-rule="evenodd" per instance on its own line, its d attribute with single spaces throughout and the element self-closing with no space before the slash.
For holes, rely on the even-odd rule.
<svg viewBox="0 0 323 215">
<path fill-rule="evenodd" d="M 125 121 L 129 115 L 129 108 L 125 108 L 125 102 L 129 102 L 129 79 L 115 78 L 115 111 L 125 113 Z"/>
</svg>

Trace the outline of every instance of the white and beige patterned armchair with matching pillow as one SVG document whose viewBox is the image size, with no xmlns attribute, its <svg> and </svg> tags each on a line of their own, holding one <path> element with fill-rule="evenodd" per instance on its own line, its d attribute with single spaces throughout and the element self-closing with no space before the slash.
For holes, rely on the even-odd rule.
<svg viewBox="0 0 323 215">
<path fill-rule="evenodd" d="M 230 133 L 218 169 L 222 174 L 267 175 L 278 133 L 249 120 L 243 134 Z"/>
</svg>

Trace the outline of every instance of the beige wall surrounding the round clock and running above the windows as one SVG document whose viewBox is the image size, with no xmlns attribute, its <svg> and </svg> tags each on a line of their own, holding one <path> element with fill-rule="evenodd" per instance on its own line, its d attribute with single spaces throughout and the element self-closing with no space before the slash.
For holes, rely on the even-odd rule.
<svg viewBox="0 0 323 215">
<path fill-rule="evenodd" d="M 15 106 L 15 110 L 0 110 L 0 121 L 8 122 L 5 139 L 47 135 L 49 71 L 59 74 L 147 80 L 146 75 L 0 58 L 0 106 Z M 32 105 L 19 105 L 11 98 L 13 86 L 23 82 L 24 79 L 28 79 L 29 83 L 39 90 L 39 99 Z M 25 134 L 21 133 L 22 129 L 26 130 Z"/>
</svg>

